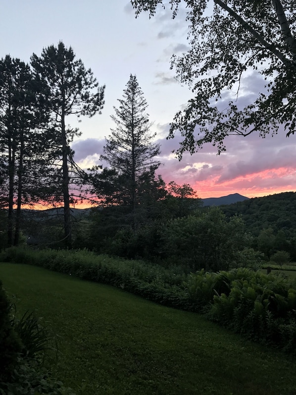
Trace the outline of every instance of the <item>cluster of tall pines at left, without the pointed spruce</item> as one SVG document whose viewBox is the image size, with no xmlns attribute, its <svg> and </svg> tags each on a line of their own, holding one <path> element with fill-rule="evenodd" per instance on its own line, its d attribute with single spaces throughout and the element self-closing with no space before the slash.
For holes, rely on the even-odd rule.
<svg viewBox="0 0 296 395">
<path fill-rule="evenodd" d="M 0 203 L 8 208 L 7 244 L 18 244 L 21 206 L 44 202 L 63 204 L 70 246 L 70 204 L 80 197 L 73 185 L 79 191 L 82 171 L 69 146 L 80 132 L 65 119 L 99 113 L 104 86 L 62 42 L 33 54 L 30 64 L 6 55 L 0 81 Z"/>
</svg>

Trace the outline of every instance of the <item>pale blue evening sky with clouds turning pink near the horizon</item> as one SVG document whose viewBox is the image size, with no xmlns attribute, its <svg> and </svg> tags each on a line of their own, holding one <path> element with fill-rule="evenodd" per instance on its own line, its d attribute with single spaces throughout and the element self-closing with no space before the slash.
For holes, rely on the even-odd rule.
<svg viewBox="0 0 296 395">
<path fill-rule="evenodd" d="M 0 14 L 0 57 L 10 54 L 29 62 L 33 53 L 39 56 L 43 48 L 63 41 L 92 69 L 99 84 L 106 85 L 101 114 L 82 117 L 80 123 L 74 117 L 67 120 L 82 132 L 72 148 L 83 169 L 101 163 L 105 138 L 114 127 L 113 106 L 133 74 L 148 103 L 151 131 L 161 146 L 159 173 L 165 182 L 189 183 L 200 198 L 296 191 L 296 137 L 286 138 L 283 129 L 264 139 L 255 133 L 246 138 L 229 136 L 227 151 L 220 155 L 209 144 L 192 156 L 184 154 L 181 161 L 172 154 L 180 138 L 166 139 L 169 123 L 193 96 L 170 70 L 171 56 L 189 48 L 184 9 L 175 20 L 169 9 L 160 9 L 151 19 L 148 14 L 136 19 L 127 0 L 0 0 Z M 250 72 L 242 81 L 241 102 L 251 102 L 260 85 L 262 80 Z"/>
</svg>

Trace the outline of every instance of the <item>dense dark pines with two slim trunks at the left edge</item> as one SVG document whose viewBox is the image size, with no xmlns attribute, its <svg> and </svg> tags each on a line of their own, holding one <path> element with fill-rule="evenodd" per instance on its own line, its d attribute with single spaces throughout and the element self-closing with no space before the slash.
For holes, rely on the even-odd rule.
<svg viewBox="0 0 296 395">
<path fill-rule="evenodd" d="M 29 65 L 9 55 L 0 59 L 0 80 L 0 205 L 8 209 L 8 245 L 17 245 L 21 205 L 40 199 L 47 166 L 48 142 L 40 130 L 47 120 L 46 93 Z"/>
</svg>

